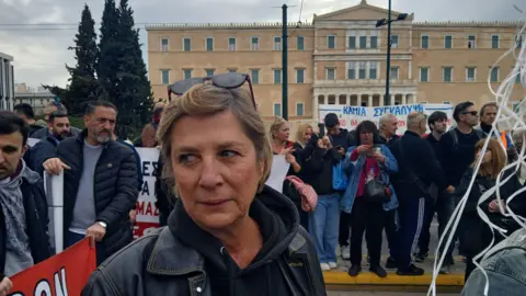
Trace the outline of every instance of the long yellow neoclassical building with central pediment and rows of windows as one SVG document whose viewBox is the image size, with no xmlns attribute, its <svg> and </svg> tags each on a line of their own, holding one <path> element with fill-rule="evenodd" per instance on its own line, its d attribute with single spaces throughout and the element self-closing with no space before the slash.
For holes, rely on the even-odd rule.
<svg viewBox="0 0 526 296">
<path fill-rule="evenodd" d="M 493 89 L 515 65 L 519 22 L 414 22 L 391 25 L 387 71 L 387 10 L 359 4 L 288 25 L 289 119 L 318 116 L 320 104 L 381 106 L 386 77 L 389 104 L 494 100 Z M 400 12 L 392 12 L 397 19 Z M 238 71 L 251 76 L 265 117 L 282 114 L 281 23 L 148 25 L 148 70 L 156 98 L 176 80 Z M 518 53 L 518 49 L 516 49 Z M 512 100 L 526 91 L 516 79 Z"/>
</svg>

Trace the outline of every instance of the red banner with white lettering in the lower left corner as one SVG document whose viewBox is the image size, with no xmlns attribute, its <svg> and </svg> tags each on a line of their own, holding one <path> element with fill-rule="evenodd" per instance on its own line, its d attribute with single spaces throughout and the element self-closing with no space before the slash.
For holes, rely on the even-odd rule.
<svg viewBox="0 0 526 296">
<path fill-rule="evenodd" d="M 10 296 L 80 295 L 96 269 L 95 249 L 85 238 L 64 252 L 11 277 Z"/>
</svg>

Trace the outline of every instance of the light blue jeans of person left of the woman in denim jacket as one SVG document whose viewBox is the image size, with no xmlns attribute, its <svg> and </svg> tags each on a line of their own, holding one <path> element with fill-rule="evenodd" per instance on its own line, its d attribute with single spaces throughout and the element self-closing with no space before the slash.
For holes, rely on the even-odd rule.
<svg viewBox="0 0 526 296">
<path fill-rule="evenodd" d="M 340 194 L 318 195 L 318 204 L 309 216 L 309 234 L 315 240 L 320 263 L 336 262 L 340 226 Z"/>
</svg>

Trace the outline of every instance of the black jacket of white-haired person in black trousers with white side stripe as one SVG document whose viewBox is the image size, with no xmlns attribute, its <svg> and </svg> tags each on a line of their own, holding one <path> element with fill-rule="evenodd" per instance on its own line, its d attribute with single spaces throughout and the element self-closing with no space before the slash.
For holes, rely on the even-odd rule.
<svg viewBox="0 0 526 296">
<path fill-rule="evenodd" d="M 392 179 L 399 198 L 423 197 L 426 194 L 414 184 L 414 180 L 411 180 L 410 170 L 425 186 L 435 183 L 439 192 L 447 187 L 447 181 L 441 164 L 426 139 L 423 139 L 416 133 L 407 130 L 400 139 L 390 146 L 390 149 L 400 168 L 398 174 Z"/>
</svg>

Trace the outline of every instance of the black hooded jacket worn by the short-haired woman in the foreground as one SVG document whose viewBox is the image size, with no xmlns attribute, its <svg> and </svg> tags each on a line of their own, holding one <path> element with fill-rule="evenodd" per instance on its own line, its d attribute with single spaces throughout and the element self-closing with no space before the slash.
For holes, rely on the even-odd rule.
<svg viewBox="0 0 526 296">
<path fill-rule="evenodd" d="M 260 226 L 263 247 L 243 270 L 179 201 L 168 227 L 106 260 L 81 295 L 327 295 L 316 248 L 294 204 L 265 186 L 249 216 Z"/>
</svg>

